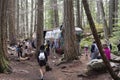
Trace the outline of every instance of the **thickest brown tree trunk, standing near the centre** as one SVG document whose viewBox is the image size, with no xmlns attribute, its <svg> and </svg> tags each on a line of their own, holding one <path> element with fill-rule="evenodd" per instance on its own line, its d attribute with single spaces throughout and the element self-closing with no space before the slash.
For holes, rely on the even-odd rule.
<svg viewBox="0 0 120 80">
<path fill-rule="evenodd" d="M 64 45 L 65 60 L 71 61 L 78 57 L 75 40 L 75 26 L 73 15 L 73 0 L 64 0 Z M 64 30 L 63 30 L 64 32 Z"/>
</svg>

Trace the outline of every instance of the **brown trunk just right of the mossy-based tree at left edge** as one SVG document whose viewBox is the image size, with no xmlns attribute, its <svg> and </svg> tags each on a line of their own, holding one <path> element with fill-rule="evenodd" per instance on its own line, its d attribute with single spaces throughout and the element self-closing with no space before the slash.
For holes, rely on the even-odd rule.
<svg viewBox="0 0 120 80">
<path fill-rule="evenodd" d="M 9 0 L 9 41 L 11 45 L 16 44 L 16 35 L 15 35 L 15 1 Z"/>
</svg>

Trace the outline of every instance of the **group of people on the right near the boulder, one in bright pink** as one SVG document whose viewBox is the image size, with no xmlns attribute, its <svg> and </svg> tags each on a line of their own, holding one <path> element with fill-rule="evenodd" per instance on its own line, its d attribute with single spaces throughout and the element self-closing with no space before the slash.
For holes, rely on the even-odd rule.
<svg viewBox="0 0 120 80">
<path fill-rule="evenodd" d="M 112 45 L 111 43 L 109 42 L 109 40 L 105 40 L 103 43 L 102 43 L 102 48 L 103 48 L 103 52 L 106 56 L 106 58 L 108 60 L 111 59 L 111 50 L 112 50 Z M 117 44 L 117 49 L 118 49 L 118 54 L 120 53 L 120 41 L 118 41 L 118 44 Z M 89 51 L 90 50 L 90 51 Z M 90 53 L 90 54 L 89 54 Z M 97 44 L 95 41 L 93 41 L 91 47 L 89 47 L 88 45 L 85 45 L 84 46 L 84 54 L 85 54 L 85 57 L 89 57 L 88 55 L 90 55 L 90 60 L 93 60 L 93 59 L 101 59 L 102 57 L 100 56 L 100 53 L 99 53 L 99 50 L 98 50 L 98 47 L 97 47 Z"/>
</svg>

